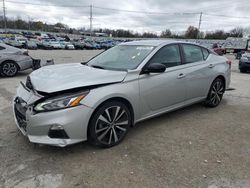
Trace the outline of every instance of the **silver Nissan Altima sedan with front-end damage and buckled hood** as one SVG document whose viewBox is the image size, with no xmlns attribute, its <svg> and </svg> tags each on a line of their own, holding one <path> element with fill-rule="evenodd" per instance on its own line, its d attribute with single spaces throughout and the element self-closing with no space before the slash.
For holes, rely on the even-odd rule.
<svg viewBox="0 0 250 188">
<path fill-rule="evenodd" d="M 87 63 L 32 72 L 13 101 L 30 142 L 111 147 L 137 122 L 204 102 L 220 104 L 231 62 L 202 46 L 165 40 L 121 43 Z"/>
</svg>

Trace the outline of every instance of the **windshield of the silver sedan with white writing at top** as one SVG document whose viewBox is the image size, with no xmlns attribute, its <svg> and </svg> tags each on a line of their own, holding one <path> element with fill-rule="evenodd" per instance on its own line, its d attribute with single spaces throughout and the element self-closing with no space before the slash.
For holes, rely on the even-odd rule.
<svg viewBox="0 0 250 188">
<path fill-rule="evenodd" d="M 115 46 L 91 59 L 87 65 L 110 70 L 135 69 L 153 49 L 153 46 Z"/>
</svg>

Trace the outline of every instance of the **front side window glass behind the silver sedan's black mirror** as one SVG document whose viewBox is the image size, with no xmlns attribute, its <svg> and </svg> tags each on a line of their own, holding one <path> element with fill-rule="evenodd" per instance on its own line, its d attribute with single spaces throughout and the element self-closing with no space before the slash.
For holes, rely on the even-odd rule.
<svg viewBox="0 0 250 188">
<path fill-rule="evenodd" d="M 161 63 L 168 67 L 174 67 L 181 64 L 180 49 L 177 44 L 162 47 L 150 59 L 149 63 Z"/>
</svg>

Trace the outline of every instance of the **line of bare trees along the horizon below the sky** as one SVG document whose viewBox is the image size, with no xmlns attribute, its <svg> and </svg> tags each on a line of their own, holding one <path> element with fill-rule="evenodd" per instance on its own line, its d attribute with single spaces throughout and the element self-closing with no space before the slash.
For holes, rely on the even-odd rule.
<svg viewBox="0 0 250 188">
<path fill-rule="evenodd" d="M 74 29 L 70 28 L 66 24 L 56 23 L 56 24 L 47 24 L 41 21 L 26 21 L 21 17 L 17 19 L 7 18 L 7 28 L 9 29 L 23 29 L 23 30 L 35 30 L 35 31 L 44 31 L 44 32 L 64 32 L 70 34 L 80 34 L 81 31 L 87 31 L 85 28 Z M 3 17 L 0 17 L 0 26 L 4 28 Z M 162 31 L 160 36 L 153 32 L 144 32 L 138 33 L 131 30 L 124 29 L 96 29 L 93 32 L 106 33 L 112 37 L 126 37 L 126 38 L 187 38 L 187 39 L 226 39 L 227 37 L 243 37 L 244 29 L 243 28 L 234 28 L 228 32 L 224 30 L 215 30 L 209 32 L 200 32 L 197 27 L 189 26 L 184 33 L 177 33 L 166 29 Z"/>
</svg>

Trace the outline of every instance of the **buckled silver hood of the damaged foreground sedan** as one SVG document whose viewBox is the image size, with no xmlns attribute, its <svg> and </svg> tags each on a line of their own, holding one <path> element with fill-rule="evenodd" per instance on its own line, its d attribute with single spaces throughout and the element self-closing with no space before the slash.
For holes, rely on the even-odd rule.
<svg viewBox="0 0 250 188">
<path fill-rule="evenodd" d="M 30 74 L 35 90 L 53 93 L 74 88 L 122 82 L 127 72 L 97 69 L 81 63 L 49 65 Z"/>
</svg>

